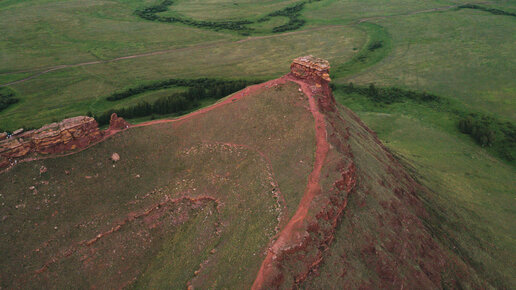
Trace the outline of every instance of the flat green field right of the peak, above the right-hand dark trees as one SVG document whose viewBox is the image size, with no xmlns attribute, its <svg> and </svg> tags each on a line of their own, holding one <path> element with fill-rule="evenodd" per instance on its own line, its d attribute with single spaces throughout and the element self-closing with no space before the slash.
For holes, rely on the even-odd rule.
<svg viewBox="0 0 516 290">
<path fill-rule="evenodd" d="M 516 120 L 514 17 L 463 9 L 375 23 L 391 34 L 392 53 L 338 81 L 426 90 Z"/>
</svg>

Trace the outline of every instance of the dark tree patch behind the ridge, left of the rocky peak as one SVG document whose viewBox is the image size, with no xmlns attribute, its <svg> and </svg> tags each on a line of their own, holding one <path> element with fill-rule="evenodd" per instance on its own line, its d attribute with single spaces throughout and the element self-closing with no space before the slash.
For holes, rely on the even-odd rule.
<svg viewBox="0 0 516 290">
<path fill-rule="evenodd" d="M 99 115 L 93 116 L 100 126 L 109 124 L 111 114 L 117 113 L 125 119 L 140 118 L 146 116 L 167 115 L 182 113 L 197 108 L 204 99 L 220 99 L 237 92 L 251 84 L 259 83 L 258 80 L 219 80 L 219 79 L 169 79 L 151 84 L 140 85 L 125 91 L 112 94 L 107 99 L 110 101 L 121 100 L 144 92 L 161 90 L 173 86 L 188 87 L 186 92 L 173 93 L 161 97 L 152 103 L 141 101 L 136 105 L 111 109 Z M 92 115 L 90 113 L 90 115 Z"/>
</svg>

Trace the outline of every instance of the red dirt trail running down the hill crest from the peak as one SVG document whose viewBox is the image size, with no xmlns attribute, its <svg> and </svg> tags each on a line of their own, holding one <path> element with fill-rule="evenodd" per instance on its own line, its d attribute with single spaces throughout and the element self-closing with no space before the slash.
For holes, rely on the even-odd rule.
<svg viewBox="0 0 516 290">
<path fill-rule="evenodd" d="M 272 268 L 272 263 L 275 260 L 276 255 L 286 246 L 296 245 L 299 243 L 300 239 L 302 239 L 304 231 L 301 231 L 301 229 L 303 229 L 303 221 L 308 214 L 310 204 L 312 203 L 314 197 L 321 193 L 321 185 L 319 183 L 321 169 L 329 150 L 329 143 L 326 139 L 327 131 L 324 114 L 319 111 L 309 85 L 294 78 L 289 77 L 289 80 L 299 84 L 303 90 L 303 93 L 308 96 L 310 112 L 314 117 L 316 136 L 314 168 L 308 177 L 308 184 L 306 186 L 303 198 L 301 199 L 301 202 L 299 203 L 299 206 L 296 210 L 296 213 L 290 219 L 288 224 L 281 230 L 276 242 L 274 242 L 272 247 L 269 248 L 267 256 L 265 257 L 256 276 L 256 280 L 253 283 L 252 289 L 263 289 L 264 281 L 267 275 L 270 273 L 270 271 L 274 271 Z"/>
</svg>

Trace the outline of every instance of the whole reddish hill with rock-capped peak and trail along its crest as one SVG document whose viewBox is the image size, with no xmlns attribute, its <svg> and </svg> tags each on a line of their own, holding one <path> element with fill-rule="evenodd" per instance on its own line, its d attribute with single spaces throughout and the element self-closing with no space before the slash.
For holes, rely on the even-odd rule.
<svg viewBox="0 0 516 290">
<path fill-rule="evenodd" d="M 328 73 L 298 58 L 189 115 L 20 159 L 0 174 L 2 287 L 492 286 Z"/>
</svg>

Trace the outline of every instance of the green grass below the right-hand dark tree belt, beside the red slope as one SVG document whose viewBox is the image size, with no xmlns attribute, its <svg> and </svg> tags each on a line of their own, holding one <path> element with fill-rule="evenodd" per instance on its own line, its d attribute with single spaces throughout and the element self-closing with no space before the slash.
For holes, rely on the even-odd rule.
<svg viewBox="0 0 516 290">
<path fill-rule="evenodd" d="M 379 105 L 339 91 L 336 96 L 431 190 L 420 198 L 435 217 L 436 236 L 493 286 L 511 288 L 516 169 L 461 134 L 447 108 L 412 101 Z"/>
</svg>

